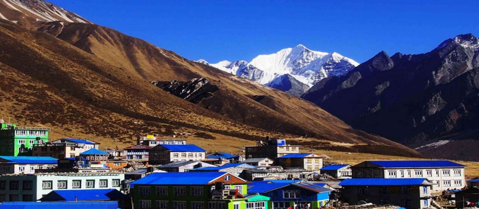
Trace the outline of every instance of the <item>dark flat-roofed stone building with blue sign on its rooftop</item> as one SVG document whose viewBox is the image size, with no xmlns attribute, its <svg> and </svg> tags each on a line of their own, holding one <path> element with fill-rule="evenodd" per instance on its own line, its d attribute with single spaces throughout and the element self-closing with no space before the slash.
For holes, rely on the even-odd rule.
<svg viewBox="0 0 479 209">
<path fill-rule="evenodd" d="M 287 154 L 299 153 L 300 147 L 287 145 L 285 139 L 270 139 L 266 137 L 266 142 L 259 141 L 256 146 L 245 146 L 246 159 L 260 157 L 275 159 Z"/>
</svg>

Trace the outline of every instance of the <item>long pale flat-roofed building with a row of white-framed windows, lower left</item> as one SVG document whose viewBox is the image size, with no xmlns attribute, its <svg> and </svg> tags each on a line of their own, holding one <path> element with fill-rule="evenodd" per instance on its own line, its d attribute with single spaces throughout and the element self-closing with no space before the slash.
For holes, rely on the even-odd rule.
<svg viewBox="0 0 479 209">
<path fill-rule="evenodd" d="M 0 202 L 35 201 L 57 189 L 120 190 L 125 174 L 35 174 L 0 176 Z"/>
</svg>

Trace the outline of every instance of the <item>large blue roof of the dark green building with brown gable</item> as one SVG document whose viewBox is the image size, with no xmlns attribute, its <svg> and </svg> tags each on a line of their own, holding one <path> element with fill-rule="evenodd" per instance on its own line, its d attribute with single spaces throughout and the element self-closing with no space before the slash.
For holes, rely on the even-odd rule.
<svg viewBox="0 0 479 209">
<path fill-rule="evenodd" d="M 152 173 L 130 184 L 153 184 L 153 185 L 203 185 L 225 175 L 226 172 L 170 172 Z"/>
</svg>

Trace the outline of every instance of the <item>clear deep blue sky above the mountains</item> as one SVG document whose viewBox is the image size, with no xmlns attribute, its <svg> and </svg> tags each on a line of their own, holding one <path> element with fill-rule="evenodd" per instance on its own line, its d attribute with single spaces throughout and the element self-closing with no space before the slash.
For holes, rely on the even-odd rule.
<svg viewBox="0 0 479 209">
<path fill-rule="evenodd" d="M 479 36 L 478 0 L 49 0 L 187 59 L 251 61 L 301 43 L 361 63 Z"/>
</svg>

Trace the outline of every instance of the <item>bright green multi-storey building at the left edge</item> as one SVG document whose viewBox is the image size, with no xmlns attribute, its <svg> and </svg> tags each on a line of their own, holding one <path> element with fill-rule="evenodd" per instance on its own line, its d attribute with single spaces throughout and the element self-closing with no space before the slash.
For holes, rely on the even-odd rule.
<svg viewBox="0 0 479 209">
<path fill-rule="evenodd" d="M 48 142 L 48 131 L 50 128 L 21 127 L 0 120 L 0 155 L 30 156 L 36 139 Z"/>
</svg>

